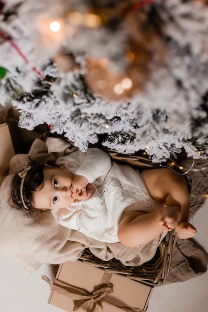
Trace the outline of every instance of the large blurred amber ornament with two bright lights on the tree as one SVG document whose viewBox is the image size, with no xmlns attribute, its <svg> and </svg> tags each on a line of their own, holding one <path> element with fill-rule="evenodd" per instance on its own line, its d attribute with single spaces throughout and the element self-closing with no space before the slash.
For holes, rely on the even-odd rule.
<svg viewBox="0 0 208 312">
<path fill-rule="evenodd" d="M 130 51 L 125 55 L 129 61 L 126 59 L 126 67 L 120 71 L 112 69 L 109 66 L 110 60 L 106 57 L 88 58 L 85 78 L 92 92 L 108 100 L 128 101 L 143 90 L 148 80 L 148 62 L 144 53 L 140 57 L 140 54 Z"/>
</svg>

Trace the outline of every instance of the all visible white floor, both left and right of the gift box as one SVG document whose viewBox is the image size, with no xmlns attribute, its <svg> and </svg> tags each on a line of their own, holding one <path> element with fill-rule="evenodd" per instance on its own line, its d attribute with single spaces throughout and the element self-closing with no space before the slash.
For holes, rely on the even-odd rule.
<svg viewBox="0 0 208 312">
<path fill-rule="evenodd" d="M 208 200 L 194 218 L 198 229 L 196 240 L 208 252 Z M 63 312 L 47 304 L 49 286 L 41 280 L 47 266 L 31 275 L 0 254 L 0 312 Z M 153 290 L 148 312 L 207 312 L 208 272 L 184 283 L 157 287 Z"/>
</svg>

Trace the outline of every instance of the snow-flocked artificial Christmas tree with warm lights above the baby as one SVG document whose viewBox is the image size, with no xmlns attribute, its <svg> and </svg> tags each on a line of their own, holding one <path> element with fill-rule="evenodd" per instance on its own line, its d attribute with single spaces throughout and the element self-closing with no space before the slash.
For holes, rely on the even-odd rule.
<svg viewBox="0 0 208 312">
<path fill-rule="evenodd" d="M 0 103 L 20 127 L 45 122 L 82 151 L 106 134 L 155 162 L 207 158 L 206 1 L 0 3 Z"/>
</svg>

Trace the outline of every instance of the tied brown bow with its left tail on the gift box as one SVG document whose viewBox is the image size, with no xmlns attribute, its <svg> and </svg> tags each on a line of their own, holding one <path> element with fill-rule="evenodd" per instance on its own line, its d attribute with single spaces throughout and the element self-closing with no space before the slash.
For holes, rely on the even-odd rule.
<svg viewBox="0 0 208 312">
<path fill-rule="evenodd" d="M 73 311 L 77 311 L 83 307 L 87 307 L 87 312 L 102 312 L 102 298 L 107 294 L 113 293 L 112 284 L 102 284 L 100 288 L 93 293 L 87 293 L 82 289 L 55 280 L 53 284 L 46 276 L 42 276 L 42 279 L 50 285 L 51 291 L 62 294 L 75 301 Z"/>
</svg>

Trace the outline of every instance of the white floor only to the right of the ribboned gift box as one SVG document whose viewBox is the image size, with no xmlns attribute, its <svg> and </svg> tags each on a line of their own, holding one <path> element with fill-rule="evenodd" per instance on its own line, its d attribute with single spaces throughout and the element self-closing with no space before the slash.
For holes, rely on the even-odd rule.
<svg viewBox="0 0 208 312">
<path fill-rule="evenodd" d="M 194 217 L 196 241 L 208 253 L 208 201 Z M 183 283 L 154 288 L 147 312 L 208 312 L 208 271 Z"/>
</svg>

